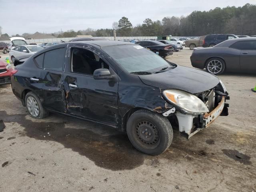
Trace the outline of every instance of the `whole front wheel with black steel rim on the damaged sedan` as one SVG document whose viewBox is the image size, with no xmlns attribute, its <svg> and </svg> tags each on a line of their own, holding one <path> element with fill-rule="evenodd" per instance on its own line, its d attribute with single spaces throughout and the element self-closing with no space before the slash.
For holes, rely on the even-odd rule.
<svg viewBox="0 0 256 192">
<path fill-rule="evenodd" d="M 128 119 L 126 131 L 132 145 L 145 154 L 161 154 L 172 143 L 173 132 L 168 119 L 148 110 L 134 112 Z"/>
</svg>

